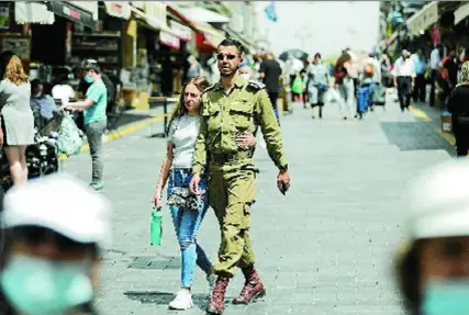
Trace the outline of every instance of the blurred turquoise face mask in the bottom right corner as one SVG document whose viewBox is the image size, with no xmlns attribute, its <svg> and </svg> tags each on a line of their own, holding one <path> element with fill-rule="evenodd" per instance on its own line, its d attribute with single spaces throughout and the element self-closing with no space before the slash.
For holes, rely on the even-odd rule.
<svg viewBox="0 0 469 315">
<path fill-rule="evenodd" d="M 423 315 L 469 314 L 469 279 L 429 282 L 424 292 Z"/>
</svg>

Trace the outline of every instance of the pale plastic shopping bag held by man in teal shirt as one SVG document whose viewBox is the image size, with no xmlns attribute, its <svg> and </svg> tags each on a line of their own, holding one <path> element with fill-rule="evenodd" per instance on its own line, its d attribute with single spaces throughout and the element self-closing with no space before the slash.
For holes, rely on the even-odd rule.
<svg viewBox="0 0 469 315">
<path fill-rule="evenodd" d="M 77 127 L 70 114 L 64 114 L 58 130 L 58 151 L 67 156 L 79 154 L 83 145 L 81 135 L 81 131 Z"/>
</svg>

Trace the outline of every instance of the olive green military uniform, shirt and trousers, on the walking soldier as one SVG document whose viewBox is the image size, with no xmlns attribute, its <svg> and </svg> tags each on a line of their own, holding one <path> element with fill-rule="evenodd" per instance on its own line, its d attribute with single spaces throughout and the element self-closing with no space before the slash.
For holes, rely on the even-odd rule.
<svg viewBox="0 0 469 315">
<path fill-rule="evenodd" d="M 236 76 L 224 92 L 221 82 L 202 94 L 202 119 L 196 142 L 193 172 L 209 168 L 209 201 L 219 220 L 222 241 L 216 273 L 233 275 L 234 267 L 254 265 L 249 241 L 250 206 L 255 202 L 254 148 L 242 149 L 235 138 L 256 134 L 260 126 L 270 158 L 277 167 L 287 165 L 280 127 L 264 85 Z"/>
</svg>

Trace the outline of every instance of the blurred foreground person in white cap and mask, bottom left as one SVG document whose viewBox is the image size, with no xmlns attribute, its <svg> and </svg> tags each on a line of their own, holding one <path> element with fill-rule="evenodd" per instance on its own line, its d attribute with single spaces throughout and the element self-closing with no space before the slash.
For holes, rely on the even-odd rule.
<svg viewBox="0 0 469 315">
<path fill-rule="evenodd" d="M 1 222 L 0 314 L 98 314 L 100 251 L 111 233 L 104 198 L 52 175 L 9 190 Z"/>
</svg>

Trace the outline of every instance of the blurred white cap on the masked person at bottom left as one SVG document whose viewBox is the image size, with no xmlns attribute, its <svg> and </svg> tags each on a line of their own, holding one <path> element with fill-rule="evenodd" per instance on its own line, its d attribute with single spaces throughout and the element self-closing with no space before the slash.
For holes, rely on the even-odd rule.
<svg viewBox="0 0 469 315">
<path fill-rule="evenodd" d="M 108 200 L 68 175 L 14 185 L 3 200 L 2 226 L 41 226 L 77 243 L 111 246 Z"/>
</svg>

